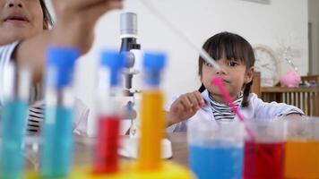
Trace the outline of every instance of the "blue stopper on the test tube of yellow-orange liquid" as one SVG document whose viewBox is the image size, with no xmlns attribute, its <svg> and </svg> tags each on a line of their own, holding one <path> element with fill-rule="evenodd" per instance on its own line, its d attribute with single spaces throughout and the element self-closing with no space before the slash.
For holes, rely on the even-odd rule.
<svg viewBox="0 0 319 179">
<path fill-rule="evenodd" d="M 145 53 L 143 57 L 143 67 L 145 70 L 144 80 L 151 86 L 160 85 L 160 72 L 166 65 L 165 54 Z"/>
</svg>

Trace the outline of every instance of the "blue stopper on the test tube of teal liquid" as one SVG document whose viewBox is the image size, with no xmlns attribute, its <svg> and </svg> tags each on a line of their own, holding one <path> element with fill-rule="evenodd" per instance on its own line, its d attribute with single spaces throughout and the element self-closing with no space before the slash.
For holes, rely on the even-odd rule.
<svg viewBox="0 0 319 179">
<path fill-rule="evenodd" d="M 48 47 L 47 66 L 56 70 L 55 81 L 52 81 L 56 89 L 70 85 L 73 80 L 75 60 L 80 56 L 80 51 L 75 47 Z M 52 77 L 48 77 L 52 78 Z"/>
</svg>

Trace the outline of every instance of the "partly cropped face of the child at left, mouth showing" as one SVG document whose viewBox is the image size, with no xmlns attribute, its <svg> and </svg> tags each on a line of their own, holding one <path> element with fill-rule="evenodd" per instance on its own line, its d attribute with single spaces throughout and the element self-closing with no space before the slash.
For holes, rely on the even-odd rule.
<svg viewBox="0 0 319 179">
<path fill-rule="evenodd" d="M 0 45 L 30 38 L 43 31 L 39 0 L 0 0 Z"/>
</svg>

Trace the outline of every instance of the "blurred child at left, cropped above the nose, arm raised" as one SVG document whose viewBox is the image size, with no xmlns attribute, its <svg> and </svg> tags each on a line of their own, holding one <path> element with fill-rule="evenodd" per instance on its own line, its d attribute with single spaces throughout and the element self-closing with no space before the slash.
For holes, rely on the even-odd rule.
<svg viewBox="0 0 319 179">
<path fill-rule="evenodd" d="M 44 0 L 0 0 L 0 109 L 4 103 L 4 69 L 10 62 L 32 67 L 33 84 L 42 81 L 47 47 L 78 47 L 86 53 L 93 42 L 99 17 L 123 6 L 122 0 L 54 0 L 56 25 L 52 24 Z M 36 85 L 35 85 L 36 86 Z M 33 88 L 30 102 L 40 99 L 41 85 Z M 30 107 L 28 131 L 39 132 L 43 102 Z M 74 132 L 86 134 L 89 110 L 75 103 Z M 1 111 L 1 110 L 0 110 Z"/>
</svg>

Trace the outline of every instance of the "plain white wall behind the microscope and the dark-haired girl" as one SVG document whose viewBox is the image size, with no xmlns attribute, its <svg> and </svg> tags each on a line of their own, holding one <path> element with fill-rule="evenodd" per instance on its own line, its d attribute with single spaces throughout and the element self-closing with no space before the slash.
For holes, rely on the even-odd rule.
<svg viewBox="0 0 319 179">
<path fill-rule="evenodd" d="M 197 46 L 220 31 L 236 32 L 252 45 L 263 44 L 273 49 L 280 42 L 293 47 L 294 58 L 302 74 L 308 70 L 307 1 L 271 0 L 271 4 L 256 4 L 241 0 L 146 0 L 156 6 L 169 21 L 188 34 Z M 154 17 L 139 0 L 125 1 L 125 10 L 138 14 L 139 39 L 143 49 L 168 54 L 168 68 L 163 89 L 167 98 L 197 90 L 198 52 L 187 46 L 167 26 Z M 118 49 L 119 11 L 108 13 L 97 27 L 97 38 L 91 53 L 82 57 L 77 69 L 76 94 L 93 107 L 95 66 L 99 50 Z M 282 61 L 283 72 L 289 66 Z"/>
</svg>

